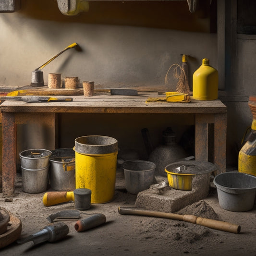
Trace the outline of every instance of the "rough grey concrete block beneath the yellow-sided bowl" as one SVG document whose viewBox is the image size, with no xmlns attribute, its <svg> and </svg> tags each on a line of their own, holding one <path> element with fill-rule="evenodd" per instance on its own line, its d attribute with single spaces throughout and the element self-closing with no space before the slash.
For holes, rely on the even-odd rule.
<svg viewBox="0 0 256 256">
<path fill-rule="evenodd" d="M 157 179 L 158 180 L 158 179 Z M 169 186 L 156 190 L 141 191 L 136 198 L 135 207 L 161 212 L 176 212 L 183 207 L 207 197 L 210 188 L 210 173 L 195 175 L 192 190 L 176 190 Z"/>
</svg>

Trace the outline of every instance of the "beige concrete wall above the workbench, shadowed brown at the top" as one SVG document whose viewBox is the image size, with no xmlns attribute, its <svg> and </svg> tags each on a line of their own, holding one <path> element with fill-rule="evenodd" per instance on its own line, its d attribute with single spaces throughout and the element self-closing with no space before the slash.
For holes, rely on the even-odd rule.
<svg viewBox="0 0 256 256">
<path fill-rule="evenodd" d="M 73 42 L 82 51 L 46 66 L 46 82 L 59 72 L 106 86 L 163 85 L 181 54 L 191 55 L 191 74 L 203 58 L 216 67 L 217 37 L 209 27 L 209 17 L 190 13 L 186 1 L 91 2 L 89 12 L 65 16 L 57 1 L 22 0 L 20 11 L 0 13 L 0 85 L 30 84 L 34 69 Z"/>
</svg>

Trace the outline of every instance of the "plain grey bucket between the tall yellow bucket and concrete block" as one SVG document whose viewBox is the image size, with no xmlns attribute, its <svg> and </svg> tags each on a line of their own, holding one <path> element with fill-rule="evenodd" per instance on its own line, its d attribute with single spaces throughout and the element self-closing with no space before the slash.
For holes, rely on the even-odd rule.
<svg viewBox="0 0 256 256">
<path fill-rule="evenodd" d="M 122 164 L 126 190 L 134 195 L 154 183 L 156 165 L 149 161 L 127 160 Z"/>
</svg>

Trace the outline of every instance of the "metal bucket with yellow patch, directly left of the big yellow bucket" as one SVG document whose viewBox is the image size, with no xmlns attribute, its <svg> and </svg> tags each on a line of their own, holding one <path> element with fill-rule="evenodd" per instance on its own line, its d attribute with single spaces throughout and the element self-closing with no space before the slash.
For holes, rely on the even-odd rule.
<svg viewBox="0 0 256 256">
<path fill-rule="evenodd" d="M 75 152 L 72 148 L 52 150 L 50 161 L 50 186 L 57 191 L 75 189 Z"/>
</svg>

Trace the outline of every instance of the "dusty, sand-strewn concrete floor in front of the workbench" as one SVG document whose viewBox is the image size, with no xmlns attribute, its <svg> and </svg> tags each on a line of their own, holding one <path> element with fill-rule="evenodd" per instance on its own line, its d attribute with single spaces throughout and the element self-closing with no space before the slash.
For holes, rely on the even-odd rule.
<svg viewBox="0 0 256 256">
<path fill-rule="evenodd" d="M 76 232 L 76 220 L 65 221 L 70 232 L 65 239 L 34 245 L 33 242 L 18 245 L 15 242 L 0 249 L 5 256 L 59 256 L 59 255 L 246 255 L 256 256 L 256 205 L 248 212 L 230 212 L 219 207 L 215 188 L 203 200 L 219 220 L 241 225 L 241 233 L 222 232 L 192 223 L 153 217 L 120 215 L 119 206 L 134 206 L 136 195 L 126 193 L 122 173 L 117 175 L 114 200 L 106 204 L 94 204 L 89 210 L 80 211 L 81 218 L 93 213 L 103 213 L 107 222 L 97 228 Z M 0 195 L 0 206 L 22 221 L 22 237 L 36 233 L 49 225 L 46 219 L 52 213 L 73 209 L 73 202 L 45 207 L 44 193 L 26 194 L 22 191 L 21 178 L 17 177 L 16 196 L 5 202 Z M 197 210 L 194 207 L 194 210 Z M 182 214 L 195 214 L 185 210 Z M 200 211 L 196 213 L 200 215 Z M 202 216 L 205 217 L 205 216 Z"/>
</svg>

